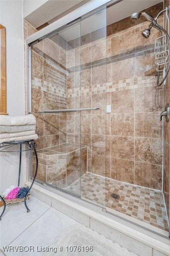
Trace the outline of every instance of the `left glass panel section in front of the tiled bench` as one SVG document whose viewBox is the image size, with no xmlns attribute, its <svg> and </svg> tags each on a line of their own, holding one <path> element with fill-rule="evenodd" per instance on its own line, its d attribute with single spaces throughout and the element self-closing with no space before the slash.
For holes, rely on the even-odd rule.
<svg viewBox="0 0 170 256">
<path fill-rule="evenodd" d="M 37 48 L 36 57 L 32 58 L 33 62 L 36 60 L 37 73 L 41 73 L 39 80 L 35 79 L 39 94 L 35 96 L 32 105 L 38 104 L 36 112 L 43 112 L 34 113 L 37 115 L 39 135 L 37 179 L 76 196 L 80 196 L 81 146 L 75 142 L 75 130 L 80 133 L 80 116 L 78 120 L 74 111 L 65 110 L 80 108 L 80 97 L 76 94 L 70 100 L 73 93 L 70 94 L 69 91 L 75 86 L 75 77 L 76 81 L 80 81 L 80 47 L 75 52 L 79 37 L 80 22 L 68 24 L 44 36 L 40 43 L 34 45 L 34 49 Z M 33 94 L 35 93 L 32 91 L 32 98 Z M 44 113 L 49 110 L 54 112 Z M 34 169 L 33 159 L 33 171 Z M 71 187 L 74 182 L 77 184 L 76 188 Z"/>
</svg>

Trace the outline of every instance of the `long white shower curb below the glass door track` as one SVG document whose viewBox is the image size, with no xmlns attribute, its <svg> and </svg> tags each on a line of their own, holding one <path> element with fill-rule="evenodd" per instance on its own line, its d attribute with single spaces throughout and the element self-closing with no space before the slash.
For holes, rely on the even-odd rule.
<svg viewBox="0 0 170 256">
<path fill-rule="evenodd" d="M 25 183 L 27 186 L 30 184 L 31 182 L 29 181 Z M 152 253 L 143 256 L 154 256 L 156 255 L 156 253 L 154 254 L 155 250 L 163 253 L 161 256 L 170 256 L 170 240 L 168 237 L 165 238 L 158 236 L 157 234 L 141 229 L 131 223 L 126 223 L 126 221 L 115 216 L 112 216 L 111 219 L 109 218 L 110 214 L 102 211 L 98 206 L 94 206 L 79 198 L 75 198 L 61 191 L 50 188 L 50 190 L 55 191 L 54 193 L 49 191 L 49 188 L 46 186 L 44 188 L 42 184 L 37 184 L 38 185 L 34 184 L 32 188 L 32 195 L 70 218 L 75 219 L 87 227 L 90 227 L 90 219 L 93 219 L 150 247 L 152 249 Z M 62 210 L 62 207 L 66 208 L 65 212 Z M 86 219 L 84 218 L 85 216 Z"/>
</svg>

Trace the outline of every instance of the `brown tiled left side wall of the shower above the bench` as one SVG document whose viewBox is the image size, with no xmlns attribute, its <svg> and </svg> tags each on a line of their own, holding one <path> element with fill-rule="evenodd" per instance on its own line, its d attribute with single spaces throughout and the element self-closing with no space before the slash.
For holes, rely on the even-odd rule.
<svg viewBox="0 0 170 256">
<path fill-rule="evenodd" d="M 37 30 L 24 21 L 25 37 L 35 32 Z M 66 42 L 57 34 L 32 47 L 32 112 L 66 107 Z M 66 142 L 66 115 L 34 115 L 38 149 Z"/>
</svg>

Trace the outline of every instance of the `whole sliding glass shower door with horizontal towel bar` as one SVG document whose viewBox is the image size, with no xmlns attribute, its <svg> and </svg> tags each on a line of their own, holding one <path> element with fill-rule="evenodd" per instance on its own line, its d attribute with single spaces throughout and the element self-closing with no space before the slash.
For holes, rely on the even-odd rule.
<svg viewBox="0 0 170 256">
<path fill-rule="evenodd" d="M 109 166 L 106 39 L 105 5 L 31 46 L 37 180 L 103 208 Z"/>
</svg>

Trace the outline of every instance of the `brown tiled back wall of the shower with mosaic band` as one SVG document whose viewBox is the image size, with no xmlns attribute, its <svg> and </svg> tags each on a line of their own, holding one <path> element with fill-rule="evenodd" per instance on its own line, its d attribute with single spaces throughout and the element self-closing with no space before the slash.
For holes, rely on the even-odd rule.
<svg viewBox="0 0 170 256">
<path fill-rule="evenodd" d="M 159 3 L 145 11 L 156 16 L 162 8 Z M 82 108 L 100 107 L 81 116 L 69 114 L 67 142 L 81 139 L 88 146 L 89 172 L 105 176 L 106 170 L 109 178 L 162 189 L 163 88 L 155 87 L 155 76 L 144 76 L 155 66 L 154 39 L 159 34 L 153 29 L 143 38 L 147 27 L 143 19 L 134 23 L 128 17 L 107 26 L 107 37 L 105 29 L 82 36 L 81 68 L 75 64 L 77 39 L 67 42 L 67 63 L 71 60 L 76 69 L 67 76 L 67 108 L 79 107 L 80 96 Z M 106 105 L 111 105 L 109 114 Z"/>
</svg>

